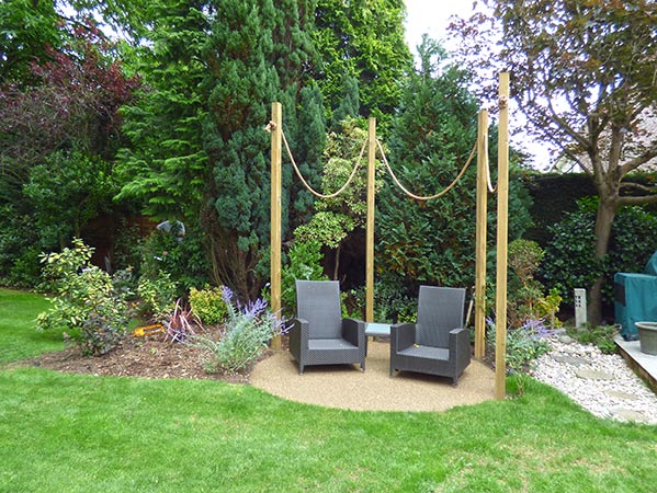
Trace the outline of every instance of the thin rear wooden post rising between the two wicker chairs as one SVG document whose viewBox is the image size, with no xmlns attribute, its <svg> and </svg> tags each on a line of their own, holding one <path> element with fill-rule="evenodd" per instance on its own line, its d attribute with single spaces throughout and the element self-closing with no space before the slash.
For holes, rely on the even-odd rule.
<svg viewBox="0 0 657 493">
<path fill-rule="evenodd" d="M 376 165 L 376 118 L 367 125 L 367 230 L 365 246 L 365 322 L 374 322 L 374 181 Z"/>
</svg>

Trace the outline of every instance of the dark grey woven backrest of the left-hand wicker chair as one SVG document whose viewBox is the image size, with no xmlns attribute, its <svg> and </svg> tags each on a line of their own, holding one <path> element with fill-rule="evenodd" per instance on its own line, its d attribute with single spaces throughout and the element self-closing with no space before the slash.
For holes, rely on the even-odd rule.
<svg viewBox="0 0 657 493">
<path fill-rule="evenodd" d="M 296 314 L 310 323 L 310 339 L 341 339 L 340 283 L 297 279 Z"/>
</svg>

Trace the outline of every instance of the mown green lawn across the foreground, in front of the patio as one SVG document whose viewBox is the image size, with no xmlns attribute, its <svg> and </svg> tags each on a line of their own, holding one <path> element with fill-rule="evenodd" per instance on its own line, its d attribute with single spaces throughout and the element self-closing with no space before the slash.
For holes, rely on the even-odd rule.
<svg viewBox="0 0 657 493">
<path fill-rule="evenodd" d="M 4 344 L 32 339 L 12 333 Z M 657 427 L 596 419 L 531 379 L 505 402 L 385 413 L 212 380 L 4 369 L 0 437 L 0 492 L 634 493 L 657 484 Z"/>
</svg>

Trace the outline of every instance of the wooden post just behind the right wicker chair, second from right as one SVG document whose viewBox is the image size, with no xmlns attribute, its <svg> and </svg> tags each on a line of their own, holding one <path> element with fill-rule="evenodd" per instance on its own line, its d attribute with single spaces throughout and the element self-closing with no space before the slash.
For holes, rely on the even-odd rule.
<svg viewBox="0 0 657 493">
<path fill-rule="evenodd" d="M 488 214 L 488 111 L 479 112 L 477 122 L 477 265 L 475 274 L 475 358 L 486 354 L 486 226 Z"/>
</svg>

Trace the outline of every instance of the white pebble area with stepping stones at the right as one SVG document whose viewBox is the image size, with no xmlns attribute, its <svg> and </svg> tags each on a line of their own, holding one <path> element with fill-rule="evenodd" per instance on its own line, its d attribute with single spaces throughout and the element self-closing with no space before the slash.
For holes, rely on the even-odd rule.
<svg viewBox="0 0 657 493">
<path fill-rule="evenodd" d="M 568 336 L 551 340 L 550 353 L 537 358 L 531 375 L 599 417 L 657 424 L 657 395 L 622 356 L 603 354 Z"/>
</svg>

